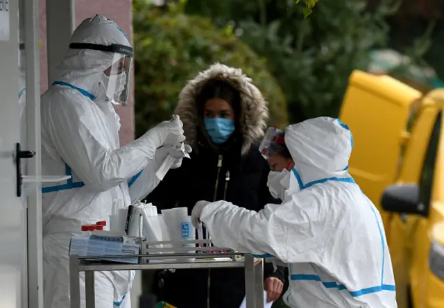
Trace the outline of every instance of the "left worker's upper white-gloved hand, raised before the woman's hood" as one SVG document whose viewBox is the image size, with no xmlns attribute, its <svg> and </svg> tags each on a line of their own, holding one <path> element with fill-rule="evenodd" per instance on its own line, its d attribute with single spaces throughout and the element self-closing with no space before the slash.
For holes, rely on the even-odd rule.
<svg viewBox="0 0 444 308">
<path fill-rule="evenodd" d="M 163 121 L 145 134 L 153 140 L 156 148 L 160 146 L 174 146 L 185 141 L 183 123 L 178 115 L 175 115 L 169 121 Z"/>
</svg>

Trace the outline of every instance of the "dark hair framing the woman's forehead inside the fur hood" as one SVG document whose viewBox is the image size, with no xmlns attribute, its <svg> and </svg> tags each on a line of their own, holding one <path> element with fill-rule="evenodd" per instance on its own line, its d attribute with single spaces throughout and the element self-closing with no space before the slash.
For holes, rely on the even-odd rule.
<svg viewBox="0 0 444 308">
<path fill-rule="evenodd" d="M 241 95 L 239 94 L 239 91 L 234 89 L 229 83 L 218 79 L 209 80 L 205 83 L 196 97 L 196 106 L 200 117 L 203 116 L 205 103 L 210 99 L 223 99 L 224 101 L 227 101 L 231 108 L 233 108 L 235 117 L 239 117 L 241 110 Z"/>
</svg>

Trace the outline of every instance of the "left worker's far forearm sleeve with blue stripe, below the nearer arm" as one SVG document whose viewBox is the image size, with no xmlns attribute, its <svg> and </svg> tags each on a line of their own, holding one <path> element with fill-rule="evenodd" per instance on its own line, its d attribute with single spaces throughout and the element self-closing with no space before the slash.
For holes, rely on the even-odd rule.
<svg viewBox="0 0 444 308">
<path fill-rule="evenodd" d="M 137 173 L 128 181 L 131 204 L 144 199 L 159 185 L 160 180 L 155 176 L 157 169 L 159 168 L 155 160 L 150 160 L 144 170 Z"/>
</svg>

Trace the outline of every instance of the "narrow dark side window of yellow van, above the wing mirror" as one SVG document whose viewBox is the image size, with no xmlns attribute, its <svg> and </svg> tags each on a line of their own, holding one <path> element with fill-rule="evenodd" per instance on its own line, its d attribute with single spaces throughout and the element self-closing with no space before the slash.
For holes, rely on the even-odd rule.
<svg viewBox="0 0 444 308">
<path fill-rule="evenodd" d="M 436 118 L 432 136 L 430 137 L 427 153 L 425 154 L 424 165 L 422 166 L 422 173 L 420 178 L 420 198 L 423 205 L 425 205 L 428 212 L 430 199 L 432 198 L 432 184 L 435 169 L 436 154 L 438 152 L 439 137 L 441 133 L 441 112 Z"/>
</svg>

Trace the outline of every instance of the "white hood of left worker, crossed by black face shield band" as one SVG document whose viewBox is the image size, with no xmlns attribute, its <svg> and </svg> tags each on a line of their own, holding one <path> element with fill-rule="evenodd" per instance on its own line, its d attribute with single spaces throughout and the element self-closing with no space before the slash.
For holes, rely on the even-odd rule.
<svg viewBox="0 0 444 308">
<path fill-rule="evenodd" d="M 74 31 L 70 43 L 130 46 L 121 28 L 103 15 L 85 19 Z M 113 58 L 113 53 L 104 51 L 68 49 L 65 60 L 58 66 L 56 80 L 70 83 L 96 96 L 101 75 L 113 64 Z"/>
</svg>

